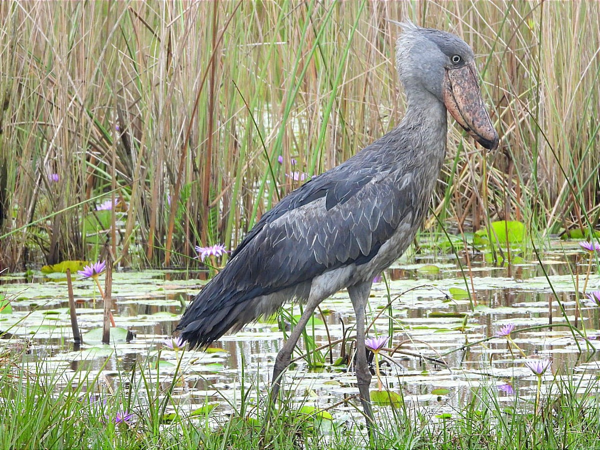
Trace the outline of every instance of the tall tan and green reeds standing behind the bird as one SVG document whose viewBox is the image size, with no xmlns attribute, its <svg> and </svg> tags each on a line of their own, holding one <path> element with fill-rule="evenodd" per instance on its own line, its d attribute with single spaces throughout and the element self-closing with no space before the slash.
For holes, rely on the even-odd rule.
<svg viewBox="0 0 600 450">
<path fill-rule="evenodd" d="M 196 244 L 235 247 L 299 185 L 286 173 L 323 172 L 400 121 L 400 30 L 388 19 L 405 17 L 472 45 L 501 136 L 485 155 L 452 125 L 431 204 L 440 223 L 520 220 L 536 240 L 589 231 L 600 216 L 599 11 L 2 2 L 0 266 L 107 252 L 124 266 L 187 265 Z M 112 199 L 123 214 L 86 227 Z"/>
</svg>

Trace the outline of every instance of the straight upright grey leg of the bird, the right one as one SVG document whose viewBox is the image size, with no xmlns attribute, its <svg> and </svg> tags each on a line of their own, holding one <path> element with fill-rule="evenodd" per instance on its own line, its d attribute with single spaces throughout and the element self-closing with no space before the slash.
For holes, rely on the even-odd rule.
<svg viewBox="0 0 600 450">
<path fill-rule="evenodd" d="M 367 416 L 367 427 L 369 434 L 373 434 L 372 425 L 375 423 L 373 411 L 371 410 L 371 394 L 369 385 L 371 384 L 371 372 L 367 364 L 367 352 L 365 351 L 365 308 L 371 292 L 372 281 L 356 284 L 348 287 L 350 300 L 356 314 L 356 381 L 358 391 L 361 396 L 362 409 Z"/>
</svg>

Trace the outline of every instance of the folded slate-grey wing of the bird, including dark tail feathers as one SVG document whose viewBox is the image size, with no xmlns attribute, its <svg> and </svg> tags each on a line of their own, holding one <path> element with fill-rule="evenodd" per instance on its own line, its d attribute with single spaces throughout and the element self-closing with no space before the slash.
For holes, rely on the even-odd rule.
<svg viewBox="0 0 600 450">
<path fill-rule="evenodd" d="M 413 217 L 415 187 L 410 174 L 355 175 L 315 178 L 310 189 L 297 190 L 263 215 L 185 311 L 178 325 L 182 337 L 192 346 L 209 344 L 277 310 L 285 300 L 277 293 L 299 295 L 296 287 L 325 271 L 373 259 L 400 221 Z M 273 294 L 277 301 L 260 301 Z"/>
</svg>

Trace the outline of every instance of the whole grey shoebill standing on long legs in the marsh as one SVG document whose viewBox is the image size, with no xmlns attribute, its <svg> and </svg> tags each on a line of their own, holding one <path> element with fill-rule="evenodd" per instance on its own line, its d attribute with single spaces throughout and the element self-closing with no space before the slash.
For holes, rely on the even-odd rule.
<svg viewBox="0 0 600 450">
<path fill-rule="evenodd" d="M 265 212 L 176 327 L 190 347 L 204 347 L 286 301 L 304 304 L 275 358 L 271 404 L 315 308 L 341 289 L 347 289 L 356 315 L 356 349 L 365 349 L 365 307 L 373 278 L 404 253 L 424 221 L 445 159 L 446 112 L 484 148 L 493 150 L 499 143 L 469 45 L 449 32 L 396 23 L 403 32 L 395 66 L 407 103 L 400 124 Z M 357 350 L 355 371 L 371 430 L 365 351 Z"/>
</svg>

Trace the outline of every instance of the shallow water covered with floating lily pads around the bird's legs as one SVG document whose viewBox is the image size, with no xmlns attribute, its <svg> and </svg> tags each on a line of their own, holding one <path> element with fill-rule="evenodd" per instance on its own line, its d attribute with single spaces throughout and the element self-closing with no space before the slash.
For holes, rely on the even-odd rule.
<svg viewBox="0 0 600 450">
<path fill-rule="evenodd" d="M 460 261 L 446 256 L 421 257 L 416 262 L 401 261 L 389 269 L 385 281 L 373 286 L 368 323 L 381 314 L 369 335 L 389 335 L 388 330 L 393 329 L 387 347 L 402 342 L 400 350 L 413 355 L 395 353 L 395 364 L 382 362 L 383 386 L 403 394 L 404 400 L 416 407 L 453 413 L 470 400 L 478 386 L 495 389 L 509 382 L 519 395 L 531 395 L 536 377 L 524 367 L 523 355 L 551 358 L 553 373 L 560 370 L 564 376 L 581 377 L 585 383 L 593 380 L 600 366 L 594 341 L 589 341 L 590 345 L 583 338 L 576 339 L 564 326 L 566 320 L 574 324 L 577 314 L 577 326 L 583 334 L 594 337 L 600 328 L 598 306 L 581 298 L 585 297 L 581 294 L 578 307 L 575 301 L 575 292 L 581 292 L 586 283 L 587 257 L 577 243 L 554 242 L 551 248 L 556 250 L 542 255 L 543 264 L 523 262 L 496 267 L 485 262 L 485 254 L 479 254 L 470 256 L 469 262 L 465 257 Z M 113 314 L 117 328 L 112 331 L 115 334 L 110 346 L 99 342 L 103 305 L 94 283 L 75 280 L 74 296 L 84 340 L 76 349 L 66 281 L 44 278 L 39 272 L 27 277 L 4 274 L 0 277 L 0 293 L 11 300 L 13 312 L 0 314 L 0 330 L 13 337 L 4 338 L 1 345 L 11 352 L 28 345 L 26 362 L 33 367 L 43 361 L 47 371 L 64 370 L 65 383 L 69 377 L 91 380 L 100 376 L 101 383 L 89 386 L 98 390 L 126 385 L 130 382 L 127 374 L 139 370 L 169 385 L 181 359 L 184 382 L 177 377 L 174 389 L 180 406 L 193 410 L 208 400 L 219 402 L 219 409 L 227 412 L 232 406 L 224 399 L 235 403 L 242 396 L 242 373 L 246 388 L 258 385 L 266 392 L 284 332 L 277 323 L 259 322 L 238 334 L 224 336 L 212 346 L 223 351 L 167 349 L 163 340 L 175 329 L 191 296 L 205 283 L 202 278 L 204 272 L 115 272 Z M 599 285 L 594 263 L 586 291 Z M 473 301 L 459 298 L 451 288 L 474 292 Z M 393 301 L 388 307 L 390 299 Z M 352 336 L 353 311 L 345 291 L 326 299 L 320 308 L 324 313 L 319 318 L 324 323 L 316 323 L 308 331 L 317 346 L 340 339 L 344 329 Z M 298 305 L 288 309 L 288 316 L 300 314 Z M 554 325 L 551 329 L 518 331 L 550 321 Z M 512 337 L 518 349 L 509 348 L 506 338 L 494 337 L 507 323 L 517 325 Z M 129 342 L 125 341 L 127 330 L 135 333 Z M 293 391 L 299 401 L 320 407 L 357 394 L 353 370 L 331 364 L 341 351 L 341 344 L 332 346 L 331 354 L 323 350 L 325 364 L 318 368 L 309 367 L 304 360 L 296 362 L 286 373 L 288 391 Z M 344 351 L 351 351 L 348 343 Z M 414 354 L 441 359 L 447 367 Z M 544 377 L 550 380 L 553 375 L 548 372 Z M 376 385 L 373 377 L 372 389 Z M 500 394 L 500 401 L 508 403 L 512 397 Z M 334 411 L 341 420 L 356 415 L 355 407 L 349 404 L 340 404 Z"/>
</svg>

